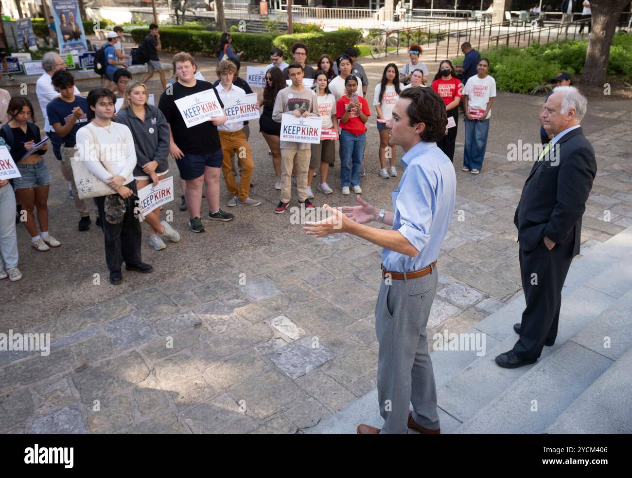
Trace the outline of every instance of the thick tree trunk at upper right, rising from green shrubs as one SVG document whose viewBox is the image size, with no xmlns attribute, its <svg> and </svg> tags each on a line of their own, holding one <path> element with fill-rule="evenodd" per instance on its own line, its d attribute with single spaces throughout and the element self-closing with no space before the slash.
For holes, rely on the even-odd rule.
<svg viewBox="0 0 632 478">
<path fill-rule="evenodd" d="M 610 58 L 610 44 L 619 15 L 629 0 L 591 0 L 592 32 L 586 51 L 581 84 L 603 87 Z"/>
</svg>

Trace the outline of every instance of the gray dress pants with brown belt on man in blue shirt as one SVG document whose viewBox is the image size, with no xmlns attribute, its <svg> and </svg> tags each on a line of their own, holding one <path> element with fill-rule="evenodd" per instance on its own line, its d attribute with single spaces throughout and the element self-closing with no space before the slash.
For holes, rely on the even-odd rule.
<svg viewBox="0 0 632 478">
<path fill-rule="evenodd" d="M 427 429 L 439 428 L 437 389 L 428 354 L 426 324 L 437 291 L 437 268 L 408 280 L 383 279 L 375 305 L 380 344 L 377 396 L 384 418 L 381 433 L 408 433 L 408 410 Z"/>
</svg>

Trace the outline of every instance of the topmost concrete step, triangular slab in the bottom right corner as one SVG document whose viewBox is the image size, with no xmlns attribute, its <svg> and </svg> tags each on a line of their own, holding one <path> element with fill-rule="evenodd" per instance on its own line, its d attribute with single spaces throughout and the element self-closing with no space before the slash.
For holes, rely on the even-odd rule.
<svg viewBox="0 0 632 478">
<path fill-rule="evenodd" d="M 586 389 L 544 432 L 632 433 L 632 349 Z"/>
</svg>

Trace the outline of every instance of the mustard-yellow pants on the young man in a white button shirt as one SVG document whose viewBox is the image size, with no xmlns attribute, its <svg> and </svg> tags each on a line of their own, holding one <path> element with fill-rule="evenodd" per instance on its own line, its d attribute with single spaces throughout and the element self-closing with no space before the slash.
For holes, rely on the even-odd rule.
<svg viewBox="0 0 632 478">
<path fill-rule="evenodd" d="M 224 154 L 224 161 L 222 161 L 222 173 L 224 173 L 224 180 L 226 180 L 226 187 L 228 191 L 237 196 L 240 201 L 244 201 L 248 198 L 250 192 L 250 179 L 252 173 L 255 170 L 255 163 L 252 161 L 252 153 L 250 151 L 250 145 L 246 140 L 246 135 L 243 130 L 239 131 L 219 131 L 219 139 L 222 142 L 222 153 Z M 242 170 L 240 176 L 240 184 L 237 186 L 233 174 L 233 153 L 237 154 L 238 163 Z"/>
</svg>

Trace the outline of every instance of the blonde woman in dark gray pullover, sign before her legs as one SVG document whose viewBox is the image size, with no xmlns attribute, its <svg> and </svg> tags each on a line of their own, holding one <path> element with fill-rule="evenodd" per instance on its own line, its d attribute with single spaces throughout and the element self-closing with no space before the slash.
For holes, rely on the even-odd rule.
<svg viewBox="0 0 632 478">
<path fill-rule="evenodd" d="M 161 110 L 147 103 L 149 94 L 145 85 L 131 80 L 125 87 L 125 102 L 116 115 L 116 122 L 131 130 L 136 149 L 136 167 L 134 179 L 138 190 L 148 184 L 157 186 L 169 172 L 169 125 Z M 157 207 L 145 215 L 151 234 L 149 244 L 161 251 L 167 245 L 161 236 L 171 242 L 178 242 L 180 235 L 166 221 L 160 220 L 161 208 Z"/>
</svg>

